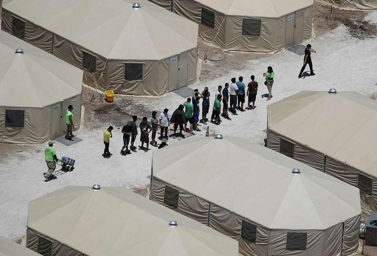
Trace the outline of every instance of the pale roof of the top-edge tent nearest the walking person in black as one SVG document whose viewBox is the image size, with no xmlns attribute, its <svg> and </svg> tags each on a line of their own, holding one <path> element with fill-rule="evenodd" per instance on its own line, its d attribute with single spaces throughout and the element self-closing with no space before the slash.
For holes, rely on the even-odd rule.
<svg viewBox="0 0 377 256">
<path fill-rule="evenodd" d="M 232 16 L 281 17 L 313 5 L 313 0 L 195 0 Z"/>
</svg>

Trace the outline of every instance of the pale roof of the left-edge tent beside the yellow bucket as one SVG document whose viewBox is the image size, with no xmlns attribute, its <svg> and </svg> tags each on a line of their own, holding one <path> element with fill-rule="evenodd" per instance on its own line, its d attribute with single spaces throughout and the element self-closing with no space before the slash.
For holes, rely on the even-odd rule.
<svg viewBox="0 0 377 256">
<path fill-rule="evenodd" d="M 81 93 L 83 71 L 6 32 L 0 37 L 1 106 L 42 108 Z"/>
</svg>

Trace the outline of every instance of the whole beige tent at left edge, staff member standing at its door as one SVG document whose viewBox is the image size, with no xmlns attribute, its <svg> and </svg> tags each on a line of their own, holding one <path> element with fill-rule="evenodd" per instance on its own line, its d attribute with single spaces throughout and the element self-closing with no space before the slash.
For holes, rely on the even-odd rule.
<svg viewBox="0 0 377 256">
<path fill-rule="evenodd" d="M 0 142 L 57 138 L 66 132 L 68 105 L 80 125 L 83 71 L 3 31 L 0 38 Z"/>
</svg>

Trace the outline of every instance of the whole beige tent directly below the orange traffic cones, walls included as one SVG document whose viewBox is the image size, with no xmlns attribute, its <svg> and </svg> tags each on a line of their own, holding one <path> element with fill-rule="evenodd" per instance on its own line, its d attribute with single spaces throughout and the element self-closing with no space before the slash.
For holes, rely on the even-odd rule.
<svg viewBox="0 0 377 256">
<path fill-rule="evenodd" d="M 359 189 L 241 137 L 153 152 L 150 198 L 236 239 L 246 256 L 349 255 L 359 244 Z"/>
</svg>

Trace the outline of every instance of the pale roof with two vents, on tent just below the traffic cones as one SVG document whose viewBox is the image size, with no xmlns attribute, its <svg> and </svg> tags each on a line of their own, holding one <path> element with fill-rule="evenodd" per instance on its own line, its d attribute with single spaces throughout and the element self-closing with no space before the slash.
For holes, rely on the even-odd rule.
<svg viewBox="0 0 377 256">
<path fill-rule="evenodd" d="M 271 229 L 326 229 L 361 213 L 358 188 L 245 138 L 174 143 L 153 152 L 153 176 Z"/>
</svg>

